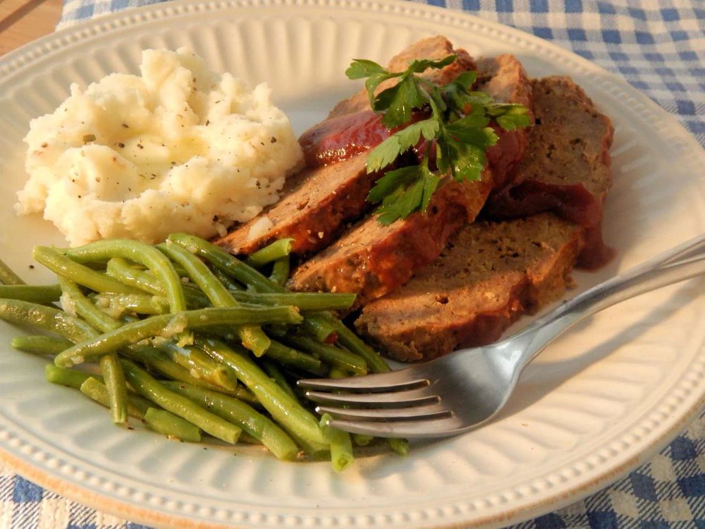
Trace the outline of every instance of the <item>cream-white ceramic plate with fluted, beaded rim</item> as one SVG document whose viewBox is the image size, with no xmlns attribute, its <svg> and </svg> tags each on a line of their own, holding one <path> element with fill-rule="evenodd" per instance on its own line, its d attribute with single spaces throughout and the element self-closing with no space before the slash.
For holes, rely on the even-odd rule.
<svg viewBox="0 0 705 529">
<path fill-rule="evenodd" d="M 577 274 L 580 289 L 705 231 L 699 145 L 644 95 L 552 44 L 462 13 L 385 1 L 178 1 L 49 35 L 0 60 L 0 255 L 30 281 L 36 243 L 63 244 L 12 214 L 30 118 L 70 83 L 135 72 L 140 50 L 192 47 L 212 68 L 266 80 L 298 131 L 355 90 L 352 57 L 384 61 L 442 33 L 474 55 L 512 52 L 533 76 L 572 75 L 615 122 L 606 240 L 618 260 Z M 0 324 L 0 448 L 28 478 L 145 523 L 242 527 L 498 525 L 557 509 L 645 461 L 705 395 L 702 282 L 642 296 L 584 322 L 522 377 L 481 430 L 374 456 L 336 475 L 256 450 L 204 450 L 126 432 L 75 392 L 44 382 L 44 361 L 10 351 Z"/>
</svg>

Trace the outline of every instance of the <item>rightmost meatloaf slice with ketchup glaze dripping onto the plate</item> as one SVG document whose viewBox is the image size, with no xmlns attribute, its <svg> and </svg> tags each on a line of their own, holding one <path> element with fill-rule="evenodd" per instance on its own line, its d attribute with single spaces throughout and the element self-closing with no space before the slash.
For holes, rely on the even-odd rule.
<svg viewBox="0 0 705 529">
<path fill-rule="evenodd" d="M 512 182 L 490 197 L 487 217 L 504 219 L 553 211 L 585 229 L 578 264 L 594 268 L 613 255 L 602 240 L 602 206 L 612 184 L 614 129 L 567 77 L 532 81 L 536 124 Z"/>
</svg>

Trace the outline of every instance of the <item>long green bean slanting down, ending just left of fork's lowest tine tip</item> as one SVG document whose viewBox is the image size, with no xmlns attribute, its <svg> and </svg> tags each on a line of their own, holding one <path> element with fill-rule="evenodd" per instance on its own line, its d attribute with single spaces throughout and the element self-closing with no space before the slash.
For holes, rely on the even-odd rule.
<svg viewBox="0 0 705 529">
<path fill-rule="evenodd" d="M 245 384 L 270 415 L 289 432 L 295 432 L 306 441 L 326 444 L 318 422 L 314 416 L 292 399 L 276 382 L 267 377 L 245 355 L 235 353 L 224 343 L 214 339 L 196 339 L 197 347 L 224 365 L 230 367 L 240 382 Z"/>
</svg>

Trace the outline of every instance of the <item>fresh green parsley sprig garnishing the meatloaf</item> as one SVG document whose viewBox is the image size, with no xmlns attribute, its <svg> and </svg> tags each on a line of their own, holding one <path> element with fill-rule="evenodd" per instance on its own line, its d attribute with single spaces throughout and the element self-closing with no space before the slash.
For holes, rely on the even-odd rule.
<svg viewBox="0 0 705 529">
<path fill-rule="evenodd" d="M 415 109 L 430 110 L 428 118 L 398 130 L 367 155 L 367 172 L 373 173 L 391 165 L 400 154 L 418 145 L 421 138 L 427 140 L 419 165 L 386 171 L 367 195 L 368 202 L 381 203 L 376 210 L 380 224 L 405 219 L 415 211 L 425 213 L 444 174 L 458 182 L 479 180 L 487 163 L 486 151 L 498 140 L 489 127 L 491 119 L 505 130 L 530 124 L 523 105 L 496 103 L 486 93 L 470 90 L 477 72 L 462 73 L 443 86 L 417 75 L 428 68 L 448 66 L 455 59 L 455 55 L 449 55 L 440 61 L 412 61 L 398 73 L 374 61 L 355 59 L 345 71 L 350 79 L 367 78 L 370 107 L 382 115 L 387 128 L 410 123 Z M 394 78 L 398 78 L 396 85 L 374 93 L 381 83 Z M 435 154 L 436 169 L 429 165 L 431 154 Z"/>
</svg>

